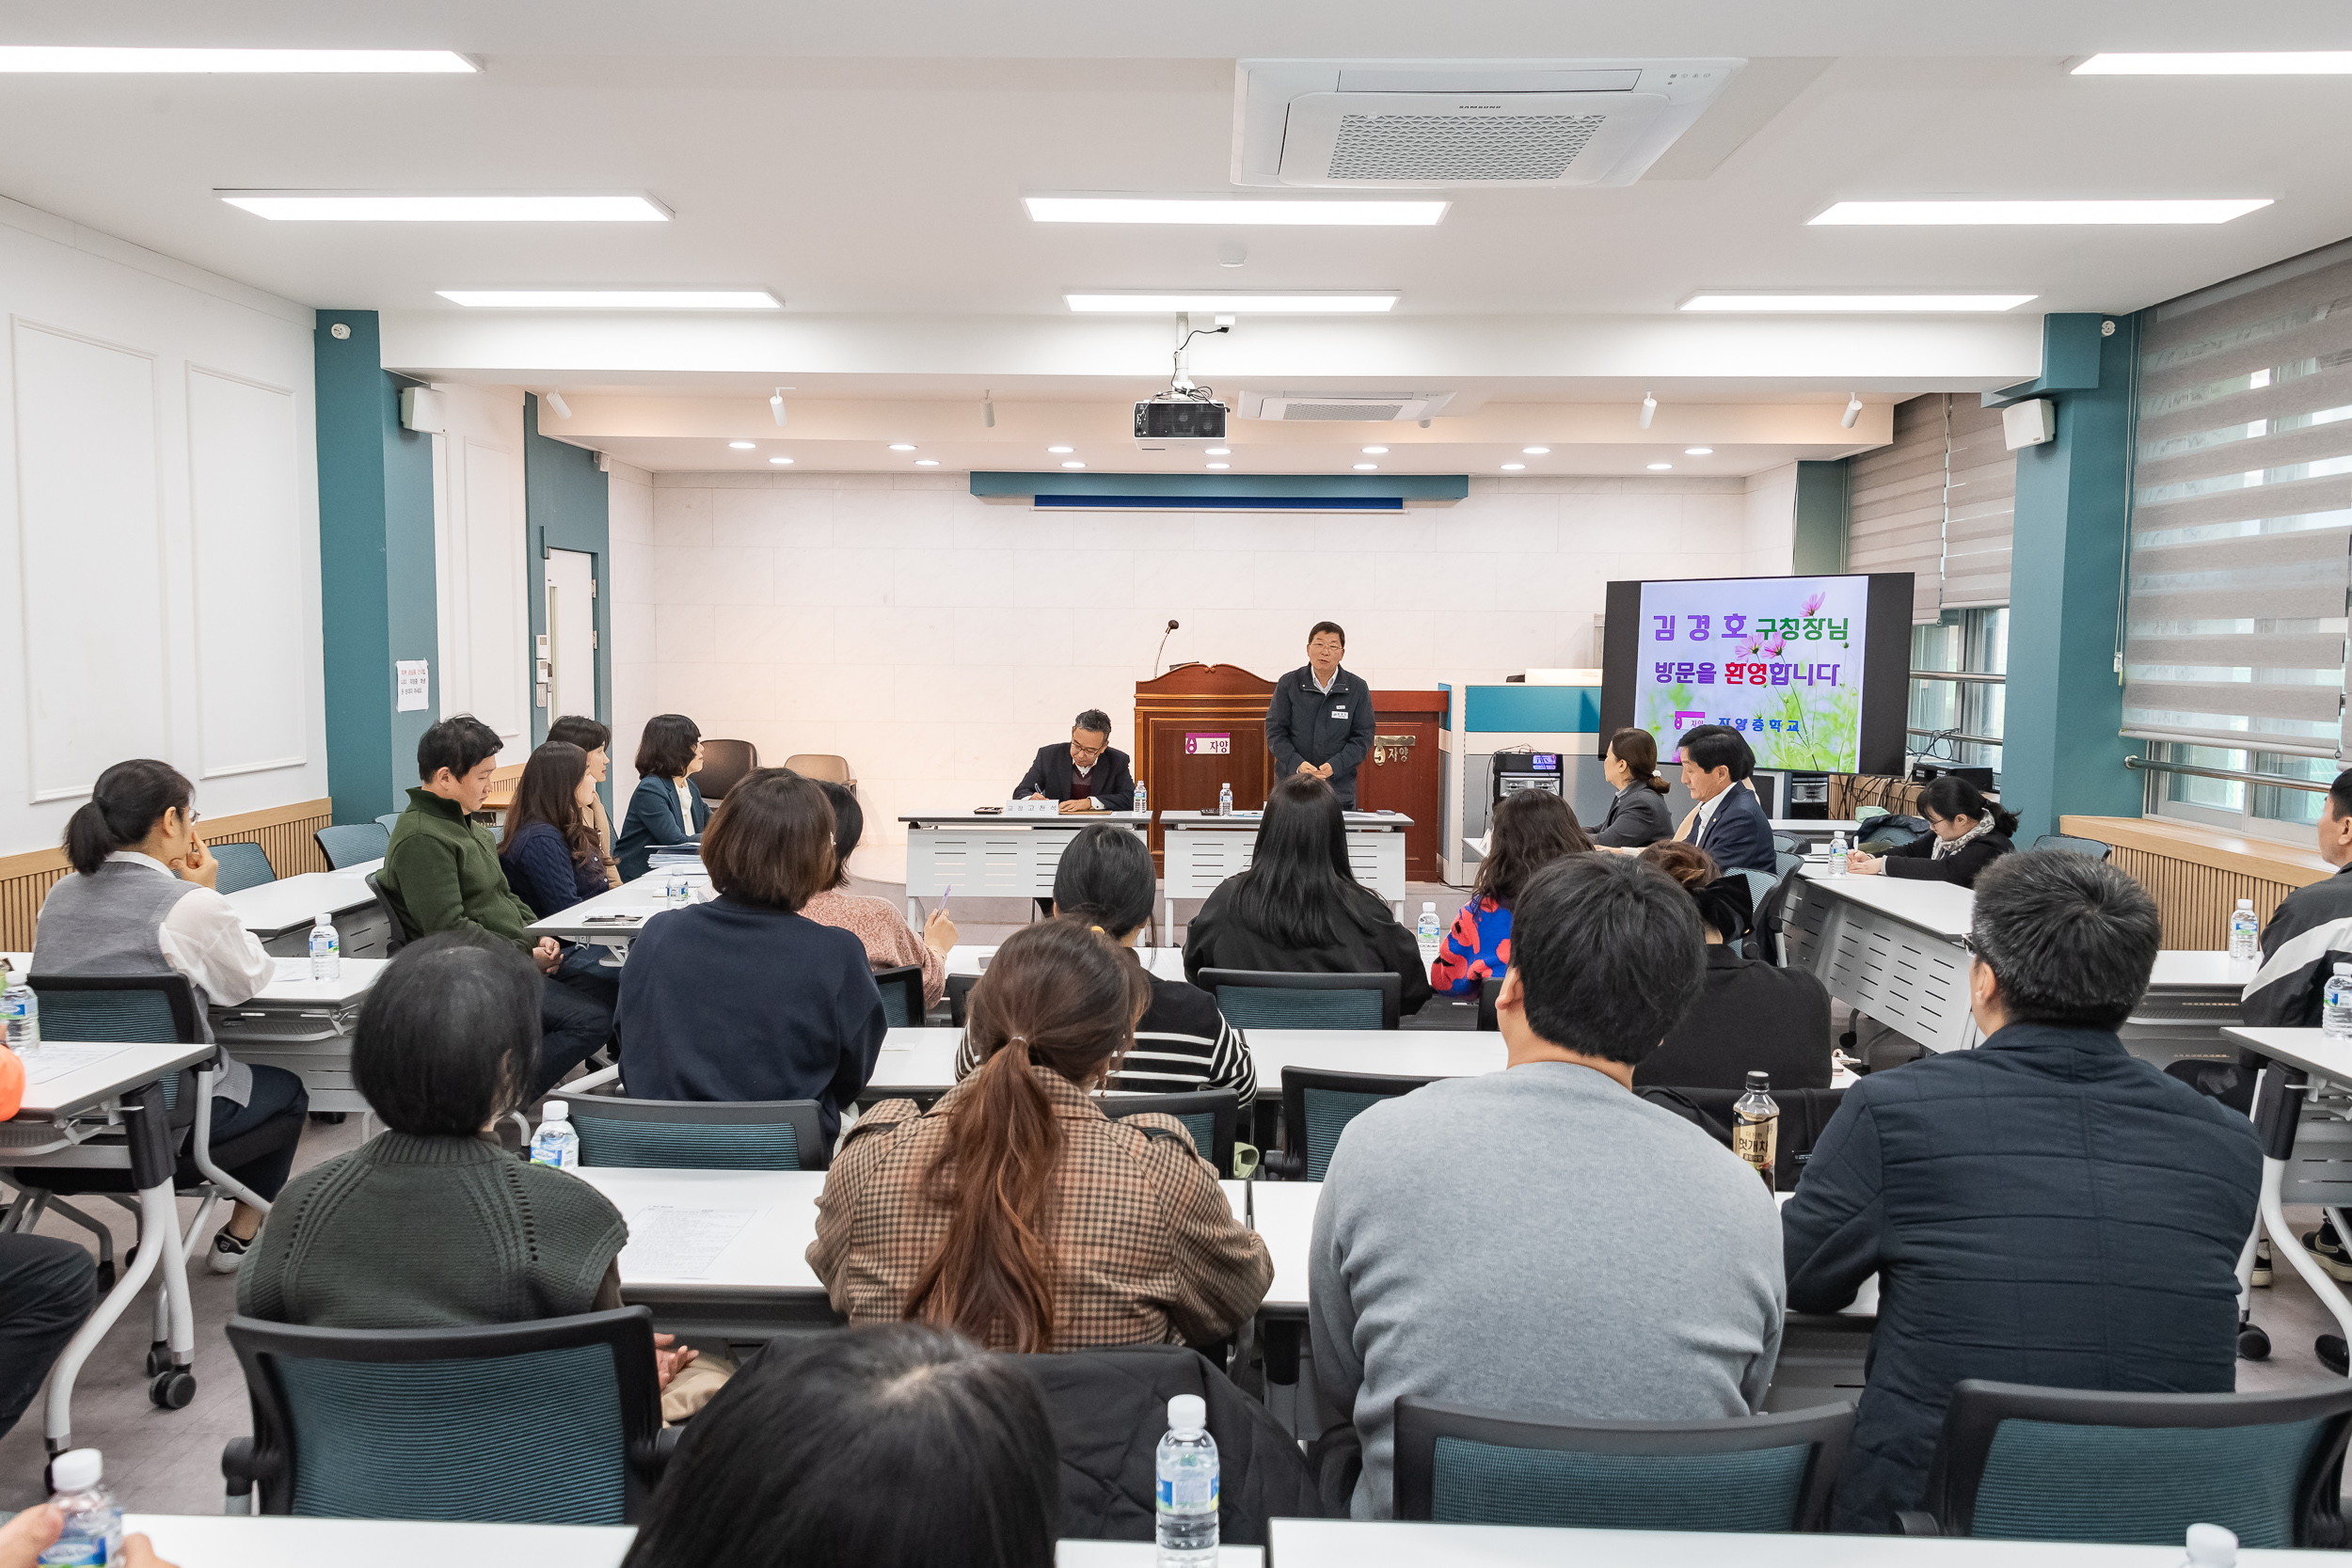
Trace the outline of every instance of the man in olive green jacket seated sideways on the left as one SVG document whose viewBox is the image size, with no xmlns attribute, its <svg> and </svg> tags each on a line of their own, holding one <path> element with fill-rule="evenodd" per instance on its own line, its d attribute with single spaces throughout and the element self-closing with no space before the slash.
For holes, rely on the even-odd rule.
<svg viewBox="0 0 2352 1568">
<path fill-rule="evenodd" d="M 393 827 L 376 884 L 412 936 L 487 931 L 515 943 L 539 964 L 546 985 L 539 999 L 536 1100 L 612 1037 L 612 987 L 593 985 L 602 976 L 569 978 L 562 971 L 574 964 L 567 964 L 562 943 L 553 936 L 532 938 L 536 914 L 506 884 L 489 827 L 473 820 L 496 766 L 499 731 L 482 719 L 456 715 L 428 729 L 416 743 L 416 773 L 423 783 L 409 790 L 409 809 Z"/>
</svg>

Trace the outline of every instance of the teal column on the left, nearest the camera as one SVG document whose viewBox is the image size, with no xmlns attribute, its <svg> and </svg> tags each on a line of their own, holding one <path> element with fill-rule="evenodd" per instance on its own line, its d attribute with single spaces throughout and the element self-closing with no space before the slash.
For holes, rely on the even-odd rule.
<svg viewBox="0 0 2352 1568">
<path fill-rule="evenodd" d="M 416 738 L 440 712 L 437 670 L 421 712 L 397 712 L 393 675 L 395 661 L 440 658 L 433 437 L 400 428 L 374 310 L 320 310 L 313 357 L 327 790 L 334 820 L 365 823 L 407 804 Z"/>
</svg>

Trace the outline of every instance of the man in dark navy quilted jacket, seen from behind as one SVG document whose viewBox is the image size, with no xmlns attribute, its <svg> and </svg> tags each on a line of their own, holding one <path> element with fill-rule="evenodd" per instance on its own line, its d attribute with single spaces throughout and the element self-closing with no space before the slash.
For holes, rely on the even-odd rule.
<svg viewBox="0 0 2352 1568">
<path fill-rule="evenodd" d="M 1985 1041 L 1846 1091 L 1780 1215 L 1790 1312 L 1879 1276 L 1870 1382 L 1832 1530 L 1917 1509 L 1962 1378 L 2230 1392 L 2253 1124 L 2114 1037 L 2157 961 L 2157 907 L 2065 851 L 1976 884 Z"/>
</svg>

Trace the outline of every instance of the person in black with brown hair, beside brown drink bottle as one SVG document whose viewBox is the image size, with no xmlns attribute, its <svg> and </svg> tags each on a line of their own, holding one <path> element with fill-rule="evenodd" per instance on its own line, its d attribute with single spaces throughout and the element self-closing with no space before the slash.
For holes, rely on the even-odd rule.
<svg viewBox="0 0 2352 1568">
<path fill-rule="evenodd" d="M 1773 1088 L 1828 1088 L 1830 992 L 1802 969 L 1740 957 L 1736 943 L 1752 919 L 1748 884 L 1719 877 L 1715 858 L 1696 844 L 1651 844 L 1642 858 L 1698 900 L 1708 931 L 1708 987 L 1665 1032 L 1665 1041 L 1642 1058 L 1632 1081 L 1745 1088 L 1750 1072 L 1769 1072 Z"/>
</svg>

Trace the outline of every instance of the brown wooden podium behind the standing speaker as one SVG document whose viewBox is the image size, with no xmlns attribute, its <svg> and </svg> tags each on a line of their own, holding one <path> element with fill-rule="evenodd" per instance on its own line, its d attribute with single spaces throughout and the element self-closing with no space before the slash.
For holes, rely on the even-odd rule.
<svg viewBox="0 0 2352 1568">
<path fill-rule="evenodd" d="M 1275 682 L 1240 665 L 1178 665 L 1136 682 L 1136 778 L 1152 811 L 1216 811 L 1218 785 L 1232 785 L 1237 811 L 1254 811 L 1275 788 L 1265 750 L 1265 703 Z M 1437 882 L 1437 736 L 1446 726 L 1444 691 L 1374 691 L 1374 748 L 1355 773 L 1362 811 L 1402 811 L 1404 875 Z M 1160 856 L 1160 830 L 1152 830 Z"/>
</svg>

